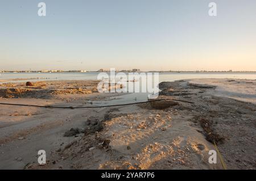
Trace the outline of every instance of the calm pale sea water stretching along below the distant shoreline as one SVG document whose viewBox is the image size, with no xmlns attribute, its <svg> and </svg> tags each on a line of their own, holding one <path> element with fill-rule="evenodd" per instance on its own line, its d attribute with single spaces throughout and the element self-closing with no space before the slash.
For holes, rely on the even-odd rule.
<svg viewBox="0 0 256 181">
<path fill-rule="evenodd" d="M 0 80 L 26 79 L 30 81 L 96 80 L 98 72 L 88 73 L 1 73 Z M 159 73 L 159 82 L 191 78 L 238 78 L 256 79 L 256 73 Z M 27 80 L 11 81 L 24 82 Z M 8 81 L 10 82 L 10 81 Z"/>
</svg>

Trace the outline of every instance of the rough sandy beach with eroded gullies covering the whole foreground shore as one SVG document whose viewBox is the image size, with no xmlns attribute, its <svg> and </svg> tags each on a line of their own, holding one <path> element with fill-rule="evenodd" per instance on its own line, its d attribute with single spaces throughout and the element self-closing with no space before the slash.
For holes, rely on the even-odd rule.
<svg viewBox="0 0 256 181">
<path fill-rule="evenodd" d="M 0 85 L 0 103 L 99 106 L 124 93 L 99 93 L 98 81 Z M 0 105 L 0 169 L 256 169 L 256 80 L 162 82 L 152 103 L 106 108 Z M 38 164 L 46 150 L 47 164 Z"/>
</svg>

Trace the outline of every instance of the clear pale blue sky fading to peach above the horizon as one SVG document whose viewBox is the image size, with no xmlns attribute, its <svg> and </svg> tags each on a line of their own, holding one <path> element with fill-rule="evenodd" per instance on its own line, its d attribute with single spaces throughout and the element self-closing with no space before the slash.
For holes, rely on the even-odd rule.
<svg viewBox="0 0 256 181">
<path fill-rule="evenodd" d="M 0 69 L 256 71 L 255 32 L 255 0 L 2 0 Z"/>
</svg>

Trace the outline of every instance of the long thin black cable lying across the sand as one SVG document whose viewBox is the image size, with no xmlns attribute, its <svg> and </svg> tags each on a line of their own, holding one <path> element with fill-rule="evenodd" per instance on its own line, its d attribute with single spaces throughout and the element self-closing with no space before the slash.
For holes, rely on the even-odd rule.
<svg viewBox="0 0 256 181">
<path fill-rule="evenodd" d="M 31 104 L 11 104 L 11 103 L 0 103 L 1 105 L 9 105 L 9 106 L 27 106 L 27 107 L 43 107 L 43 108 L 61 108 L 61 109 L 77 109 L 77 108 L 103 108 L 103 107 L 115 107 L 115 106 L 129 106 L 133 104 L 143 104 L 143 103 L 150 103 L 150 102 L 156 102 L 161 100 L 174 100 L 179 102 L 185 102 L 185 103 L 191 103 L 187 100 L 179 100 L 179 99 L 155 99 L 155 100 L 147 100 L 145 102 L 137 102 L 137 103 L 127 103 L 127 104 L 115 104 L 115 105 L 106 105 L 106 106 L 81 106 L 81 107 L 62 107 L 62 106 L 40 106 L 40 105 L 31 105 Z"/>
</svg>

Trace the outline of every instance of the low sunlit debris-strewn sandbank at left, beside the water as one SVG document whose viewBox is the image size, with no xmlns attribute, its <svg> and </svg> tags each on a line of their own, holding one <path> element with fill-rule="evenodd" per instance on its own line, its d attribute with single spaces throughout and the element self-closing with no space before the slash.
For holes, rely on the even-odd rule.
<svg viewBox="0 0 256 181">
<path fill-rule="evenodd" d="M 4 83 L 4 89 L 0 89 L 0 97 L 49 99 L 68 94 L 92 94 L 97 92 L 97 83 L 98 81 Z"/>
</svg>

